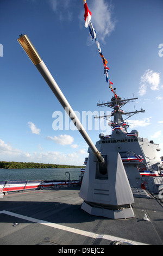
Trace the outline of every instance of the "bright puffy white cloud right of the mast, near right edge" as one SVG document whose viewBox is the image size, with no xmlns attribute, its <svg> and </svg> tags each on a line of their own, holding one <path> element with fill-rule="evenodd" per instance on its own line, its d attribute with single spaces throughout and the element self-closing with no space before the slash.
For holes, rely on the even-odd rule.
<svg viewBox="0 0 163 256">
<path fill-rule="evenodd" d="M 153 70 L 146 70 L 145 73 L 141 77 L 141 86 L 139 88 L 139 94 L 142 96 L 147 93 L 148 87 L 151 90 L 159 90 L 160 89 L 160 73 L 154 72 Z"/>
</svg>

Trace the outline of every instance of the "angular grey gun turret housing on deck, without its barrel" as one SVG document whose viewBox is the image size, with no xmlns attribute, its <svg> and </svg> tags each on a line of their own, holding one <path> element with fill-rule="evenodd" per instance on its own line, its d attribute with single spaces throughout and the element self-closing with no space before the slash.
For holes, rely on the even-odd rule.
<svg viewBox="0 0 163 256">
<path fill-rule="evenodd" d="M 103 157 L 105 166 L 89 154 L 79 193 L 84 199 L 82 209 L 112 219 L 134 217 L 133 193 L 120 154 L 110 151 Z"/>
</svg>

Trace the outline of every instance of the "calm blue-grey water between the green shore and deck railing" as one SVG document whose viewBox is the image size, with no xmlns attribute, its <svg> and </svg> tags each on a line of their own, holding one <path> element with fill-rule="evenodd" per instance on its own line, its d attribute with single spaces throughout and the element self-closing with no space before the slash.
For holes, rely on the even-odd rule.
<svg viewBox="0 0 163 256">
<path fill-rule="evenodd" d="M 0 169 L 0 181 L 3 180 L 78 180 L 80 168 L 46 168 L 46 169 Z"/>
</svg>

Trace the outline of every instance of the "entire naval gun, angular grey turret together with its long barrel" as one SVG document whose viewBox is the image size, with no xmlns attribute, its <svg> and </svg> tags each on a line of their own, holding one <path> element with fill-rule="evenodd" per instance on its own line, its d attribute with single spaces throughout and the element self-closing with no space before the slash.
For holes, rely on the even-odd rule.
<svg viewBox="0 0 163 256">
<path fill-rule="evenodd" d="M 131 208 L 134 203 L 133 193 L 120 154 L 111 150 L 103 155 L 99 153 L 28 35 L 21 35 L 17 40 L 90 147 L 79 193 L 79 197 L 84 199 L 82 209 L 91 215 L 112 219 L 134 217 Z"/>
</svg>

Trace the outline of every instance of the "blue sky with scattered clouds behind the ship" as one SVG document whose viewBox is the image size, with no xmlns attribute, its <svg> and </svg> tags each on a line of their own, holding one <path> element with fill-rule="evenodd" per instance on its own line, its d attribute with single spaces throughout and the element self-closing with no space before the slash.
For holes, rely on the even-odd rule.
<svg viewBox="0 0 163 256">
<path fill-rule="evenodd" d="M 128 132 L 137 129 L 163 148 L 162 0 L 87 0 L 87 5 L 116 93 L 139 97 L 124 111 L 146 110 L 128 119 Z M 54 116 L 65 118 L 64 109 L 17 42 L 28 34 L 81 117 L 84 111 L 110 111 L 96 106 L 113 95 L 84 26 L 83 1 L 1 0 L 0 24 L 0 161 L 83 164 L 86 143 L 78 131 L 54 130 Z M 93 127 L 87 129 L 93 143 L 99 133 L 110 132 Z"/>
</svg>

